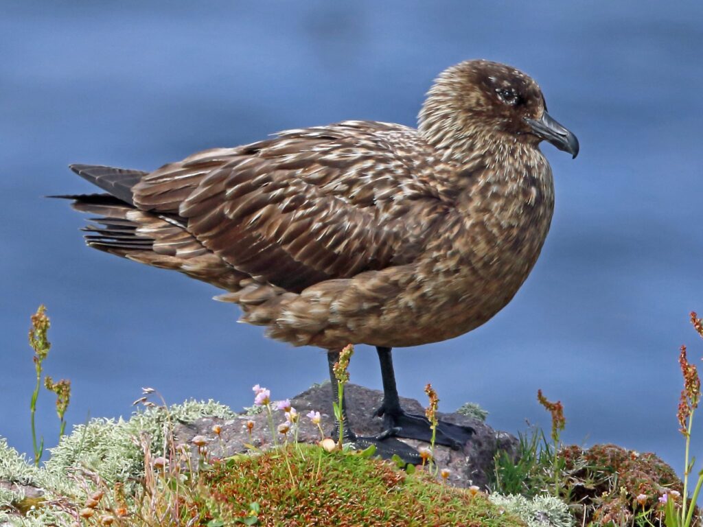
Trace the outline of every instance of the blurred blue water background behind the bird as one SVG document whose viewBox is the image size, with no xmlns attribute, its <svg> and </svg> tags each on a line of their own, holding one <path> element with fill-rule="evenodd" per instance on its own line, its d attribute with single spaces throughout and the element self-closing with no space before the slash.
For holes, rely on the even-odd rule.
<svg viewBox="0 0 703 527">
<path fill-rule="evenodd" d="M 515 65 L 581 141 L 543 150 L 552 230 L 512 303 L 463 337 L 395 353 L 399 390 L 489 424 L 654 451 L 681 471 L 678 346 L 701 365 L 703 4 L 656 1 L 32 2 L 0 17 L 0 434 L 31 451 L 30 314 L 46 304 L 45 363 L 72 381 L 70 424 L 127 416 L 141 386 L 169 403 L 250 405 L 327 376 L 323 353 L 236 324 L 217 290 L 84 246 L 84 218 L 42 196 L 95 190 L 72 162 L 155 169 L 197 150 L 343 119 L 415 124 L 432 79 L 467 58 Z M 380 388 L 359 346 L 352 382 Z M 58 430 L 39 399 L 47 446 Z M 699 419 L 699 423 L 703 419 Z M 703 428 L 694 454 L 703 458 Z"/>
</svg>

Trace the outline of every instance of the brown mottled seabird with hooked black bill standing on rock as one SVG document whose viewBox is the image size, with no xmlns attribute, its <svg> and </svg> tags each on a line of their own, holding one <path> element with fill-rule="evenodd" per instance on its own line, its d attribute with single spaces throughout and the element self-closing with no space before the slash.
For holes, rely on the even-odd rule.
<svg viewBox="0 0 703 527">
<path fill-rule="evenodd" d="M 576 157 L 536 82 L 469 60 L 442 72 L 418 128 L 369 121 L 284 131 L 153 172 L 75 164 L 107 194 L 62 196 L 100 217 L 90 247 L 225 289 L 269 337 L 380 358 L 385 432 L 347 439 L 403 450 L 429 441 L 401 409 L 391 349 L 451 339 L 498 313 L 537 260 L 554 207 L 543 140 Z M 330 375 L 333 393 L 336 380 Z M 460 447 L 471 429 L 441 423 Z"/>
</svg>

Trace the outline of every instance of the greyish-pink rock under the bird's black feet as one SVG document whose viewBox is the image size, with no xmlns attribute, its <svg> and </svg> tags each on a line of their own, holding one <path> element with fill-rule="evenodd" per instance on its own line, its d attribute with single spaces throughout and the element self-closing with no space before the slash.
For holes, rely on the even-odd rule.
<svg viewBox="0 0 703 527">
<path fill-rule="evenodd" d="M 347 398 L 347 412 L 349 422 L 352 424 L 356 434 L 361 436 L 375 436 L 382 431 L 382 419 L 373 417 L 373 411 L 380 406 L 383 393 L 378 390 L 371 390 L 356 384 L 347 384 L 344 389 Z M 299 430 L 297 440 L 304 443 L 317 443 L 320 441 L 320 431 L 316 425 L 310 422 L 305 415 L 310 410 L 316 410 L 322 415 L 322 427 L 325 435 L 329 435 L 334 426 L 334 413 L 330 399 L 330 385 L 313 386 L 300 393 L 291 400 L 293 408 L 299 414 Z M 423 408 L 414 399 L 401 398 L 401 405 L 404 410 L 424 414 Z M 475 429 L 475 434 L 471 440 L 464 445 L 463 450 L 452 450 L 449 447 L 435 445 L 434 459 L 442 469 L 451 470 L 449 483 L 457 487 L 468 487 L 477 485 L 484 488 L 489 482 L 489 478 L 494 470 L 494 455 L 498 449 L 507 450 L 511 455 L 515 455 L 517 450 L 517 439 L 501 431 L 496 431 L 479 419 L 467 417 L 460 413 L 445 414 L 438 412 L 441 419 L 455 423 L 469 425 Z M 191 423 L 179 423 L 175 427 L 176 444 L 186 443 L 191 445 L 193 456 L 197 459 L 198 448 L 191 444 L 195 436 L 205 436 L 209 439 L 208 453 L 214 457 L 226 457 L 236 453 L 245 453 L 250 450 L 246 445 L 254 445 L 257 448 L 266 448 L 271 445 L 271 431 L 266 412 L 255 415 L 243 414 L 236 419 L 219 419 L 216 417 L 203 417 Z M 247 431 L 246 422 L 252 420 L 254 427 L 250 436 Z M 283 412 L 273 412 L 274 428 L 284 421 Z M 220 427 L 219 436 L 214 433 L 213 427 Z M 279 442 L 283 436 L 276 432 Z M 288 433 L 288 441 L 293 437 Z M 423 441 L 401 439 L 418 449 L 428 446 Z"/>
</svg>

